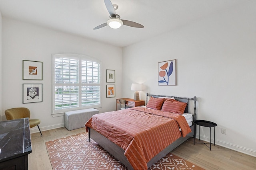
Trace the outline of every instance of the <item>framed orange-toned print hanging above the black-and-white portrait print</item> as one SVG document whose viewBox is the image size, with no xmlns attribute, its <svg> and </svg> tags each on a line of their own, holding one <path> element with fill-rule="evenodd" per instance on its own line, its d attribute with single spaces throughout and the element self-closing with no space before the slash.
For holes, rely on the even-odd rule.
<svg viewBox="0 0 256 170">
<path fill-rule="evenodd" d="M 43 80 L 43 62 L 40 61 L 23 61 L 22 80 Z"/>
</svg>

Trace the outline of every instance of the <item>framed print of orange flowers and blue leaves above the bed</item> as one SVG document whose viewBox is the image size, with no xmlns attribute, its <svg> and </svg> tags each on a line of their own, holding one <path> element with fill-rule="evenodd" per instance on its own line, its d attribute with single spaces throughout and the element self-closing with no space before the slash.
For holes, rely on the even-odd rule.
<svg viewBox="0 0 256 170">
<path fill-rule="evenodd" d="M 158 86 L 176 85 L 176 60 L 158 63 Z"/>
</svg>

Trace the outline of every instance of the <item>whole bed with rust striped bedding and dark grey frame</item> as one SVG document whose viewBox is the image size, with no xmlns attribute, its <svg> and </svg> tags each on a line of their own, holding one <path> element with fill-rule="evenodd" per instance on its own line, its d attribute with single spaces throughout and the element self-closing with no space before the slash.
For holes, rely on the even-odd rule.
<svg viewBox="0 0 256 170">
<path fill-rule="evenodd" d="M 163 101 L 161 108 L 167 108 L 167 111 L 151 108 L 150 104 L 154 103 L 152 101 Z M 182 103 L 182 113 L 168 112 L 168 107 L 174 101 Z M 192 110 L 189 107 L 191 102 L 194 103 L 191 116 L 192 120 L 195 120 L 196 97 L 146 93 L 147 107 L 133 107 L 92 116 L 85 124 L 89 142 L 93 139 L 122 162 L 128 170 L 145 170 L 188 138 L 194 137 L 192 120 L 189 126 L 186 116 L 183 115 L 183 112 L 188 113 Z M 158 103 L 153 104 L 157 105 Z"/>
</svg>

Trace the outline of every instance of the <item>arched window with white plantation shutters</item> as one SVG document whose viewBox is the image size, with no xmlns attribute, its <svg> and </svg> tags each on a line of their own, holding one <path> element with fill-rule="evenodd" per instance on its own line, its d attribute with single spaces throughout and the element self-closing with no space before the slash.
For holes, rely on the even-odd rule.
<svg viewBox="0 0 256 170">
<path fill-rule="evenodd" d="M 77 54 L 52 55 L 52 61 L 52 114 L 100 107 L 100 61 Z"/>
</svg>

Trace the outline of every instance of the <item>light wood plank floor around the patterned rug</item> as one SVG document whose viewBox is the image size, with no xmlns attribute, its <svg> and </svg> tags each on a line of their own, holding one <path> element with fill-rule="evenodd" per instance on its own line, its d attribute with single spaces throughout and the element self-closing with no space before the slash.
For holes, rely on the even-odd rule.
<svg viewBox="0 0 256 170">
<path fill-rule="evenodd" d="M 52 170 L 45 142 L 84 132 L 84 128 L 68 131 L 65 127 L 31 134 L 32 153 L 28 155 L 29 170 Z M 190 138 L 172 151 L 206 170 L 256 170 L 256 157 L 234 150 L 212 145 L 212 150 L 204 144 L 194 145 Z"/>
</svg>

